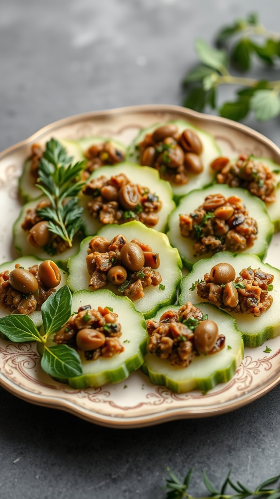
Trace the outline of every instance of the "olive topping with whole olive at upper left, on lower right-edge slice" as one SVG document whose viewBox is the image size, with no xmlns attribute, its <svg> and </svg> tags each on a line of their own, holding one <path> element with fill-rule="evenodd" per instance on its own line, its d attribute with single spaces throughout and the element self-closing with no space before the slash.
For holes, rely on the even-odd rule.
<svg viewBox="0 0 280 499">
<path fill-rule="evenodd" d="M 218 263 L 195 284 L 198 296 L 231 312 L 260 317 L 272 305 L 269 291 L 273 289 L 274 275 L 251 267 L 235 275 L 230 263 Z"/>
</svg>

